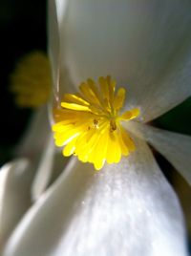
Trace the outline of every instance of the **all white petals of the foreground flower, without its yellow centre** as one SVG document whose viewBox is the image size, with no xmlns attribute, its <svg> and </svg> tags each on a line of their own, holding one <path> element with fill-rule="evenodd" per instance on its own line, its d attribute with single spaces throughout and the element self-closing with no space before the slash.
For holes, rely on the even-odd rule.
<svg viewBox="0 0 191 256">
<path fill-rule="evenodd" d="M 191 3 L 50 0 L 50 11 L 55 99 L 89 76 L 113 75 L 128 85 L 124 109 L 141 110 L 126 126 L 137 151 L 98 173 L 72 159 L 4 255 L 186 255 L 179 202 L 145 141 L 191 182 L 191 138 L 144 123 L 191 95 Z"/>
</svg>

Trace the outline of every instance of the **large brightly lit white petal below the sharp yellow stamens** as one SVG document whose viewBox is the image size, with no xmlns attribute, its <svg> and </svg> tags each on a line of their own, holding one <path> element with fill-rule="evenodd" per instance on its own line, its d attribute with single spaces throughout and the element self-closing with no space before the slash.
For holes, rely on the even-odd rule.
<svg viewBox="0 0 191 256">
<path fill-rule="evenodd" d="M 144 142 L 95 172 L 77 160 L 34 204 L 4 256 L 186 255 L 180 205 Z"/>
</svg>

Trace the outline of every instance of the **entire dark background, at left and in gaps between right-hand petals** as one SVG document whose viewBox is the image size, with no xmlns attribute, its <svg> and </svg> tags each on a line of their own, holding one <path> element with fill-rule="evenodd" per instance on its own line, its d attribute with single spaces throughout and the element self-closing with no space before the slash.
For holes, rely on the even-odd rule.
<svg viewBox="0 0 191 256">
<path fill-rule="evenodd" d="M 18 108 L 9 91 L 10 75 L 26 53 L 47 50 L 46 0 L 0 1 L 0 166 L 13 158 L 18 143 L 32 116 L 31 109 Z M 155 120 L 160 128 L 191 135 L 191 98 Z M 169 162 L 156 154 L 160 167 L 180 197 L 191 234 L 191 189 Z"/>
</svg>

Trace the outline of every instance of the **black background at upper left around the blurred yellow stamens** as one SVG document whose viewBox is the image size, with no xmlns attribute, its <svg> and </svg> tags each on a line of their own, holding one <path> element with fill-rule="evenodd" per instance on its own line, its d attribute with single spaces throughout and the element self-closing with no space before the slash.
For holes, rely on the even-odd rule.
<svg viewBox="0 0 191 256">
<path fill-rule="evenodd" d="M 46 0 L 0 0 L 0 165 L 12 158 L 32 114 L 14 104 L 9 90 L 15 64 L 26 53 L 47 50 Z"/>
</svg>

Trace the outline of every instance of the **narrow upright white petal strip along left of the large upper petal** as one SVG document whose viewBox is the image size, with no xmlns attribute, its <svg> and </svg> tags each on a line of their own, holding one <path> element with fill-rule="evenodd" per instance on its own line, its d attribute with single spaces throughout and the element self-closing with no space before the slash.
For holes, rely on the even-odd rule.
<svg viewBox="0 0 191 256">
<path fill-rule="evenodd" d="M 49 56 L 53 75 L 53 107 L 59 105 L 63 93 L 73 92 L 74 85 L 64 63 L 61 67 L 61 54 L 64 55 L 65 41 L 60 42 L 60 30 L 65 24 L 68 0 L 49 0 Z M 60 86 L 60 84 L 62 86 Z"/>
</svg>

